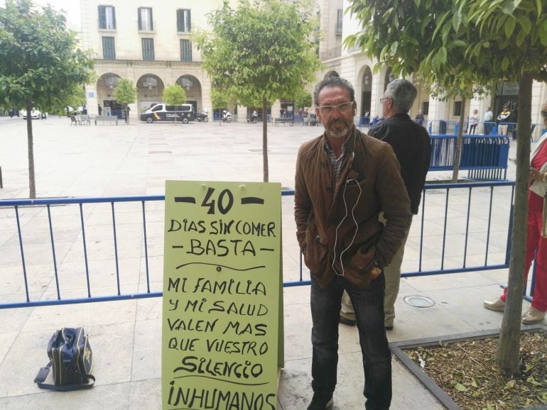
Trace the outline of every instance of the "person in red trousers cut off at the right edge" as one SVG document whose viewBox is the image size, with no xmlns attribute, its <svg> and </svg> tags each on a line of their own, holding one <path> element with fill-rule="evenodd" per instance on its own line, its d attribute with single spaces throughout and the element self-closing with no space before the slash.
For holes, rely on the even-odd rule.
<svg viewBox="0 0 547 410">
<path fill-rule="evenodd" d="M 543 126 L 547 128 L 547 101 L 541 105 Z M 524 265 L 524 282 L 528 278 L 528 271 L 534 255 L 536 256 L 536 284 L 532 306 L 524 316 L 522 323 L 531 324 L 543 321 L 547 311 L 547 232 L 546 217 L 543 212 L 543 201 L 547 201 L 547 133 L 538 141 L 531 153 L 530 189 L 528 193 L 528 229 L 526 233 L 526 260 Z M 507 287 L 504 294 L 494 301 L 484 301 L 486 309 L 503 311 Z"/>
</svg>

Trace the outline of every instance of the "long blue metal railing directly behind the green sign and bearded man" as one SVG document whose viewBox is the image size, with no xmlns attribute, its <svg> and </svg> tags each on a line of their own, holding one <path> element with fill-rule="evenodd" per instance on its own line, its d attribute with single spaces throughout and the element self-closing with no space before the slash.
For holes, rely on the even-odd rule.
<svg viewBox="0 0 547 410">
<path fill-rule="evenodd" d="M 479 195 L 477 197 L 477 194 Z M 294 192 L 290 190 L 284 190 L 282 192 L 283 196 L 293 196 Z M 509 267 L 509 248 L 510 248 L 510 230 L 511 230 L 511 218 L 512 218 L 512 203 L 514 197 L 514 182 L 475 182 L 467 184 L 426 184 L 426 188 L 423 192 L 423 199 L 421 204 L 421 222 L 416 225 L 416 221 L 413 224 L 413 229 L 411 229 L 411 236 L 407 241 L 407 249 L 414 247 L 417 258 L 412 260 L 413 263 L 416 263 L 414 267 L 407 267 L 404 269 L 402 277 L 415 277 L 415 276 L 427 276 L 427 275 L 442 275 L 455 272 L 475 272 L 482 270 L 497 270 L 504 269 Z M 159 210 L 150 211 L 148 207 L 153 206 L 153 203 L 164 201 L 165 197 L 163 195 L 156 196 L 115 196 L 115 197 L 102 197 L 102 198 L 54 198 L 54 199 L 22 199 L 22 200 L 6 200 L 0 201 L 0 216 L 10 217 L 11 212 L 13 211 L 15 216 L 15 226 L 13 231 L 13 236 L 17 238 L 19 252 L 21 254 L 21 273 L 22 281 L 24 282 L 24 291 L 23 292 L 12 292 L 9 294 L 9 298 L 13 299 L 19 297 L 20 300 L 16 301 L 6 301 L 6 295 L 3 294 L 0 296 L 1 301 L 0 309 L 9 309 L 15 307 L 25 307 L 25 306 L 48 306 L 48 305 L 59 305 L 59 304 L 79 304 L 87 303 L 92 301 L 114 301 L 114 300 L 124 300 L 124 299 L 141 299 L 141 298 L 150 298 L 150 297 L 161 297 L 162 292 L 158 290 L 151 290 L 151 270 L 149 267 L 149 242 L 148 242 L 148 230 L 147 225 L 149 218 L 147 214 L 151 212 L 156 212 L 152 214 L 156 216 L 155 223 L 159 224 L 161 221 L 161 226 L 163 227 L 163 211 L 159 213 Z M 495 206 L 494 206 L 495 203 Z M 107 215 L 110 214 L 108 225 L 102 226 L 102 228 L 107 228 L 112 231 L 114 253 L 113 258 L 115 262 L 115 286 L 112 288 L 116 289 L 115 294 L 102 294 L 99 295 L 97 289 L 92 286 L 93 279 L 93 270 L 90 269 L 89 260 L 90 256 L 88 255 L 88 247 L 90 245 L 90 240 L 87 238 L 87 231 L 90 226 L 86 223 L 86 218 L 89 217 L 90 212 L 87 210 L 88 207 L 99 206 L 99 204 L 106 204 L 109 211 L 103 212 L 102 215 L 107 218 Z M 144 283 L 139 285 L 146 285 L 146 289 L 142 287 L 138 292 L 129 292 L 124 293 L 124 289 L 127 289 L 126 283 L 124 282 L 124 277 L 126 275 L 137 275 L 139 277 L 139 272 L 127 272 L 127 270 L 122 270 L 120 267 L 119 261 L 119 248 L 123 247 L 124 241 L 119 238 L 119 225 L 118 221 L 120 218 L 122 220 L 126 219 L 123 211 L 120 211 L 124 204 L 131 204 L 133 206 L 131 211 L 131 224 L 126 224 L 126 226 L 131 226 L 131 228 L 138 228 L 141 232 L 141 238 L 136 238 L 142 241 L 142 249 L 139 245 L 139 253 L 143 252 L 144 260 L 144 273 L 146 274 L 143 278 Z M 462 215 L 464 212 L 463 205 L 467 204 L 467 211 L 465 216 Z M 163 204 L 159 204 L 163 206 Z M 85 293 L 86 297 L 66 297 L 65 295 L 70 294 L 70 289 L 63 289 L 60 282 L 60 275 L 58 272 L 58 258 L 57 258 L 57 248 L 59 244 L 63 244 L 63 238 L 58 238 L 55 236 L 55 223 L 53 223 L 52 214 L 59 214 L 63 206 L 77 206 L 77 212 L 72 212 L 77 215 L 77 223 L 79 227 L 75 227 L 78 235 L 81 234 L 82 238 L 82 252 L 83 260 L 82 266 L 77 267 L 78 272 L 81 272 L 80 276 L 84 275 L 85 272 Z M 23 240 L 23 228 L 26 226 L 21 223 L 21 209 L 24 211 L 36 211 L 36 213 L 43 213 L 43 207 L 47 211 L 47 228 L 48 232 L 48 242 L 50 243 L 51 251 L 51 267 L 50 272 L 53 273 L 48 280 L 53 279 L 54 282 L 51 282 L 51 290 L 55 294 L 54 298 L 43 299 L 44 295 L 39 294 L 36 297 L 33 297 L 32 292 L 29 290 L 29 275 L 27 270 L 27 261 L 26 261 L 26 249 L 32 248 L 33 243 L 31 240 L 30 244 L 26 244 Z M 60 207 L 60 208 L 55 208 Z M 55 209 L 55 212 L 52 211 L 52 208 Z M 136 226 L 136 214 L 135 209 L 140 209 L 138 211 L 141 214 L 140 218 L 142 225 Z M 427 210 L 435 209 L 436 212 L 431 212 L 431 220 L 426 218 Z M 70 211 L 65 209 L 64 213 Z M 442 223 L 438 220 L 438 215 L 441 213 L 444 214 Z M 55 215 L 57 216 L 57 215 Z M 436 216 L 436 217 L 435 217 Z M 418 218 L 418 216 L 416 216 Z M 463 227 L 463 221 L 460 221 L 462 218 L 465 218 L 465 228 Z M 61 218 L 61 221 L 66 223 L 67 218 Z M 502 221 L 501 224 L 496 223 L 497 231 L 495 236 L 492 236 L 492 225 L 493 221 Z M 503 222 L 507 221 L 507 225 Z M 140 223 L 139 223 L 140 225 Z M 8 226 L 6 224 L 5 226 Z M 501 230 L 500 230 L 501 227 Z M 507 227 L 507 229 L 506 229 Z M 125 228 L 127 229 L 127 228 Z M 104 231 L 104 230 L 103 230 Z M 135 229 L 133 229 L 135 231 Z M 132 232 L 133 232 L 132 231 Z M 135 231 L 136 232 L 136 231 Z M 121 229 L 121 233 L 124 233 L 124 229 Z M 38 231 L 38 226 L 33 226 L 31 230 L 31 238 L 33 236 L 44 236 Z M 104 232 L 102 232 L 104 235 Z M 163 228 L 161 228 L 161 235 L 163 235 Z M 494 238 L 494 244 L 492 243 L 492 238 Z M 66 240 L 66 239 L 65 239 Z M 501 240 L 501 243 L 500 243 Z M 95 242 L 106 243 L 105 238 L 96 239 Z M 450 241 L 450 246 L 448 245 Z M 477 254 L 478 244 L 484 246 L 484 255 L 482 253 Z M 470 244 L 472 243 L 472 244 Z M 76 242 L 74 242 L 76 245 Z M 455 256 L 454 248 L 458 248 L 458 252 L 461 255 Z M 496 248 L 492 251 L 492 248 Z M 473 254 L 470 255 L 470 249 L 473 251 Z M 482 249 L 482 248 L 481 248 Z M 292 249 L 291 253 L 299 253 L 298 248 Z M 447 254 L 450 255 L 447 256 Z M 163 250 L 161 255 L 163 255 Z M 161 257 L 158 255 L 157 257 Z M 410 251 L 407 251 L 406 256 L 411 255 Z M 434 257 L 432 256 L 434 255 Z M 459 260 L 461 257 L 461 260 Z M 458 259 L 458 262 L 455 260 Z M 472 259 L 472 262 L 470 262 Z M 483 260 L 484 262 L 477 262 L 477 260 Z M 40 260 L 40 263 L 45 264 L 46 261 Z M 80 262 L 78 262 L 80 263 Z M 434 265 L 434 266 L 433 266 Z M 72 268 L 72 267 L 71 267 Z M 404 265 L 405 268 L 405 265 Z M 74 268 L 72 268 L 74 270 Z M 70 277 L 75 277 L 76 272 L 70 272 Z M 156 273 L 156 272 L 154 272 Z M 114 275 L 114 274 L 113 274 Z M 161 274 L 158 274 L 161 275 Z M 284 287 L 293 287 L 309 284 L 309 280 L 304 279 L 305 267 L 303 265 L 302 257 L 300 255 L 300 272 L 299 278 L 296 281 L 292 282 L 283 282 Z M 161 276 L 160 276 L 161 279 Z M 66 281 L 66 277 L 63 281 Z M 95 281 L 97 279 L 94 279 Z M 159 279 L 158 279 L 159 280 Z M 156 286 L 158 285 L 158 280 L 156 280 Z M 48 287 L 49 287 L 49 282 Z M 54 285 L 54 286 L 53 286 Z M 36 286 L 36 285 L 35 285 Z M 101 286 L 106 286 L 106 284 L 101 283 Z M 54 288 L 54 289 L 53 289 Z M 81 288 L 83 289 L 83 287 Z M 36 293 L 36 292 L 35 292 Z M 82 291 L 83 293 L 83 291 Z M 24 300 L 23 300 L 24 299 Z"/>
</svg>

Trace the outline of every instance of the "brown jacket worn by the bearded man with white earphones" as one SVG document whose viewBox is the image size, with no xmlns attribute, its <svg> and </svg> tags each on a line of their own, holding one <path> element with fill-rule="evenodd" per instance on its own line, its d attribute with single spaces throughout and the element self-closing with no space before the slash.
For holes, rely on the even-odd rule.
<svg viewBox="0 0 547 410">
<path fill-rule="evenodd" d="M 333 187 L 324 138 L 310 140 L 298 151 L 296 237 L 320 287 L 342 274 L 356 286 L 367 287 L 374 263 L 389 265 L 406 236 L 410 200 L 391 146 L 355 128 Z M 378 221 L 380 211 L 385 226 Z"/>
</svg>

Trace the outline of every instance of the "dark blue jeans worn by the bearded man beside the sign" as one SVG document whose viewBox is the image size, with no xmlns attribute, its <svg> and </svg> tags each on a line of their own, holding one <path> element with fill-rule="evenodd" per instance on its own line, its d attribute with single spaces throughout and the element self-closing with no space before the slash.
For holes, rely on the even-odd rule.
<svg viewBox="0 0 547 410">
<path fill-rule="evenodd" d="M 336 277 L 325 289 L 311 279 L 313 321 L 313 392 L 332 394 L 338 365 L 338 322 L 344 290 L 350 295 L 357 319 L 363 355 L 365 409 L 386 410 L 391 404 L 391 351 L 384 328 L 384 287 L 382 272 L 369 287 L 355 287 L 344 277 Z"/>
</svg>

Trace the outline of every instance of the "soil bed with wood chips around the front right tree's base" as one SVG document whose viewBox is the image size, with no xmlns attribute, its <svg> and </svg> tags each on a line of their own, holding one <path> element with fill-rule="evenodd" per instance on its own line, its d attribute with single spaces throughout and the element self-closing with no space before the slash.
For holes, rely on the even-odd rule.
<svg viewBox="0 0 547 410">
<path fill-rule="evenodd" d="M 499 330 L 390 343 L 391 351 L 448 409 L 547 409 L 547 326 L 523 326 L 520 374 L 496 363 Z"/>
</svg>

